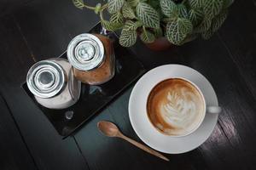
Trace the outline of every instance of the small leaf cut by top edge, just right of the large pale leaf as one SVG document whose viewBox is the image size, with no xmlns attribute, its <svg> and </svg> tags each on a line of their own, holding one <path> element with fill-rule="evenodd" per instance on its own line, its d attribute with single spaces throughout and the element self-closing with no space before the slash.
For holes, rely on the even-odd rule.
<svg viewBox="0 0 256 170">
<path fill-rule="evenodd" d="M 172 2 L 172 0 L 160 0 L 160 8 L 163 14 L 167 17 L 171 17 L 177 10 L 177 5 Z"/>
</svg>

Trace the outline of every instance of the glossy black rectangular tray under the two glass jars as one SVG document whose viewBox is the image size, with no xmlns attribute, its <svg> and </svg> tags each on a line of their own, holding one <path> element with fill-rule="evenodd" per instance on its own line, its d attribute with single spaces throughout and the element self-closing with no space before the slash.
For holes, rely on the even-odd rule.
<svg viewBox="0 0 256 170">
<path fill-rule="evenodd" d="M 90 33 L 102 33 L 102 26 L 97 24 Z M 140 61 L 137 60 L 135 54 L 128 48 L 123 48 L 118 43 L 118 37 L 111 32 L 104 32 L 113 40 L 114 51 L 116 57 L 115 76 L 109 81 L 99 86 L 90 86 L 82 84 L 81 95 L 79 101 L 63 110 L 51 110 L 39 105 L 33 94 L 26 86 L 26 82 L 22 84 L 26 94 L 38 105 L 40 110 L 48 117 L 56 131 L 64 138 L 78 129 L 84 122 L 88 121 L 91 116 L 99 113 L 102 108 L 109 104 L 132 82 L 142 76 L 145 69 Z M 67 59 L 66 52 L 61 54 L 61 58 Z M 67 119 L 67 113 L 73 112 L 71 119 Z"/>
</svg>

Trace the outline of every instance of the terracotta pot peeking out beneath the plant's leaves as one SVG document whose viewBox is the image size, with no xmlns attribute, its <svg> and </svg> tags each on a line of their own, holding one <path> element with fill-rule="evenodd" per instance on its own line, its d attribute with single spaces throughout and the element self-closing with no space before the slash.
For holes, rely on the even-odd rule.
<svg viewBox="0 0 256 170">
<path fill-rule="evenodd" d="M 146 46 L 154 51 L 163 51 L 174 46 L 166 37 L 160 37 L 152 43 L 145 43 Z"/>
</svg>

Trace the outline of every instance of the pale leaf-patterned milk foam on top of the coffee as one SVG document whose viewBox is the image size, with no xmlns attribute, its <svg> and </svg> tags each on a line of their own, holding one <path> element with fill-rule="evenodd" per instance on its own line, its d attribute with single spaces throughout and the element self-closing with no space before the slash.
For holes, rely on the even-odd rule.
<svg viewBox="0 0 256 170">
<path fill-rule="evenodd" d="M 173 87 L 159 106 L 160 116 L 172 126 L 172 131 L 173 129 L 190 131 L 196 126 L 197 119 L 200 119 L 198 111 L 201 110 L 201 99 L 198 94 L 191 93 L 189 88 L 178 85 Z"/>
</svg>

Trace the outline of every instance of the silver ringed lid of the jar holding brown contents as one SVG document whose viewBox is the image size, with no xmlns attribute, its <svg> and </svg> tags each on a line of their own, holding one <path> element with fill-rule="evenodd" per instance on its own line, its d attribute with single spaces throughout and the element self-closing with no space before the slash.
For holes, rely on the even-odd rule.
<svg viewBox="0 0 256 170">
<path fill-rule="evenodd" d="M 101 40 L 88 33 L 80 34 L 69 42 L 67 59 L 80 71 L 90 71 L 102 64 L 104 47 Z"/>
</svg>

